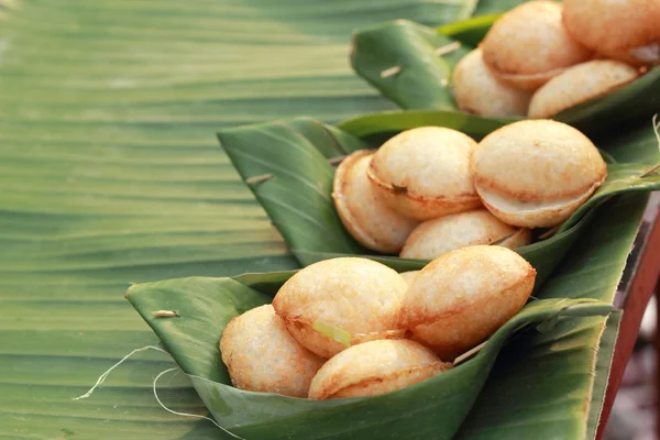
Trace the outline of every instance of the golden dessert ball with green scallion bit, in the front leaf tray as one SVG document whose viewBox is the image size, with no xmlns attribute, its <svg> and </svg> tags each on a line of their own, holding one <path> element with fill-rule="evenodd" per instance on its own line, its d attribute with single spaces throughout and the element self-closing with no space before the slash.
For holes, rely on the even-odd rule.
<svg viewBox="0 0 660 440">
<path fill-rule="evenodd" d="M 372 260 L 340 257 L 311 264 L 290 277 L 273 300 L 292 336 L 311 352 L 332 358 L 345 345 L 314 329 L 315 322 L 339 328 L 362 342 L 396 338 L 397 315 L 407 283 Z"/>
</svg>

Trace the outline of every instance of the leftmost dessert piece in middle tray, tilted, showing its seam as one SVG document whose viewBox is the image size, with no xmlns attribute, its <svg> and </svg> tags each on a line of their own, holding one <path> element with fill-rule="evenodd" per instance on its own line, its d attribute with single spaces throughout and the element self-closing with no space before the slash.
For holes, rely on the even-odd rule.
<svg viewBox="0 0 660 440">
<path fill-rule="evenodd" d="M 351 235 L 373 251 L 402 250 L 417 221 L 402 216 L 378 196 L 366 177 L 374 151 L 358 151 L 342 161 L 334 174 L 332 198 Z"/>
</svg>

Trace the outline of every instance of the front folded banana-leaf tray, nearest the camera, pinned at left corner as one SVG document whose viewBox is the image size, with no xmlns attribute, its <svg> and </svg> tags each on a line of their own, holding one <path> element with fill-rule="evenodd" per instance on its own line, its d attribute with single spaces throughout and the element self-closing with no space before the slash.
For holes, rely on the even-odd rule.
<svg viewBox="0 0 660 440">
<path fill-rule="evenodd" d="M 287 274 L 288 276 L 292 273 Z M 267 284 L 271 275 L 263 276 Z M 253 280 L 260 275 L 253 275 Z M 272 292 L 272 288 L 267 288 Z M 607 302 L 548 299 L 529 304 L 488 340 L 475 358 L 424 383 L 387 395 L 315 402 L 231 386 L 219 340 L 229 320 L 270 297 L 232 278 L 184 278 L 132 286 L 127 298 L 156 332 L 215 419 L 244 439 L 451 439 L 472 407 L 505 341 L 530 322 L 606 316 Z M 153 312 L 174 309 L 176 318 Z M 543 323 L 543 322 L 541 322 Z M 563 322 L 562 322 L 563 324 Z M 582 336 L 584 342 L 590 333 Z M 571 343 L 575 343 L 574 340 Z M 414 427 L 406 422 L 414 418 Z M 565 431 L 562 428 L 558 431 Z M 569 430 L 578 432 L 578 430 Z M 575 438 L 571 436 L 570 438 Z"/>
</svg>

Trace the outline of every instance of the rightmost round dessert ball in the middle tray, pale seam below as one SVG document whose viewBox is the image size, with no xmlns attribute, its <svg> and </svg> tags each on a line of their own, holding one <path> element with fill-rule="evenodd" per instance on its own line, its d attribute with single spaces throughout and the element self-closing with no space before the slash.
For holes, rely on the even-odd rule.
<svg viewBox="0 0 660 440">
<path fill-rule="evenodd" d="M 551 120 L 505 125 L 482 140 L 472 157 L 484 206 L 507 224 L 562 223 L 607 177 L 598 150 L 580 131 Z"/>
</svg>

